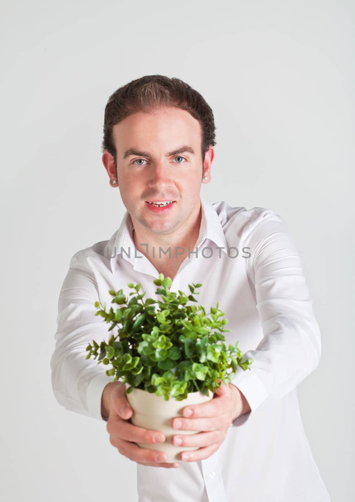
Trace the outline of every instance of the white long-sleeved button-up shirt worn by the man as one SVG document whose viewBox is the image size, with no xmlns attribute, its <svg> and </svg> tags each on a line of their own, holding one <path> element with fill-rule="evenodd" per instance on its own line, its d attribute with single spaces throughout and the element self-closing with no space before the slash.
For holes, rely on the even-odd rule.
<svg viewBox="0 0 355 502">
<path fill-rule="evenodd" d="M 253 359 L 251 369 L 238 367 L 232 380 L 251 412 L 232 423 L 205 460 L 171 469 L 137 463 L 139 502 L 328 502 L 297 400 L 296 386 L 317 367 L 321 351 L 298 250 L 274 211 L 200 199 L 200 234 L 170 291 L 188 293 L 188 284 L 202 283 L 196 305 L 209 310 L 219 301 L 232 330 L 224 333 L 226 346 L 239 340 L 243 360 Z M 109 325 L 95 316 L 94 302 L 109 306 L 109 290 L 122 288 L 129 296 L 129 282 L 155 298 L 159 275 L 135 248 L 132 229 L 126 211 L 110 240 L 78 251 L 58 302 L 54 395 L 67 410 L 102 421 L 101 396 L 112 377 L 107 366 L 85 357 L 92 340 L 108 341 Z"/>
</svg>

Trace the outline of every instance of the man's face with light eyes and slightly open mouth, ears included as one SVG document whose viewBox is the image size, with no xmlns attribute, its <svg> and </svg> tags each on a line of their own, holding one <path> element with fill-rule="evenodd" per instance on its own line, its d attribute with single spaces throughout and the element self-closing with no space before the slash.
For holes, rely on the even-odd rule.
<svg viewBox="0 0 355 502">
<path fill-rule="evenodd" d="M 135 229 L 141 225 L 143 231 L 169 234 L 188 224 L 200 210 L 203 167 L 209 175 L 214 158 L 210 146 L 203 166 L 201 137 L 200 122 L 176 107 L 134 113 L 113 127 L 117 185 Z M 103 154 L 103 163 L 111 180 L 115 179 L 108 152 Z M 152 201 L 172 204 L 154 210 L 148 204 Z"/>
</svg>

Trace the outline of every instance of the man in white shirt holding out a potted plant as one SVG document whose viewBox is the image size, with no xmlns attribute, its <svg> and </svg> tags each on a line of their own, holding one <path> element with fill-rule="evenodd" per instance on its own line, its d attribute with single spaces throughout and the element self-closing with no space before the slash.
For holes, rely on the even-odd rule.
<svg viewBox="0 0 355 502">
<path fill-rule="evenodd" d="M 179 79 L 145 76 L 110 96 L 102 162 L 127 211 L 111 239 L 70 262 L 53 391 L 68 410 L 107 421 L 112 446 L 136 462 L 140 502 L 325 502 L 297 401 L 296 386 L 317 367 L 321 348 L 299 254 L 274 211 L 200 196 L 215 144 L 211 108 Z M 203 283 L 199 303 L 220 302 L 232 330 L 227 342 L 239 340 L 253 360 L 212 401 L 172 420 L 173 444 L 198 448 L 174 464 L 135 444 L 165 438 L 133 426 L 125 386 L 85 359 L 89 342 L 107 338 L 93 303 L 109 302 L 108 291 L 128 282 L 153 297 L 159 273 L 172 279 L 171 291 Z M 179 436 L 179 429 L 201 432 Z"/>
</svg>

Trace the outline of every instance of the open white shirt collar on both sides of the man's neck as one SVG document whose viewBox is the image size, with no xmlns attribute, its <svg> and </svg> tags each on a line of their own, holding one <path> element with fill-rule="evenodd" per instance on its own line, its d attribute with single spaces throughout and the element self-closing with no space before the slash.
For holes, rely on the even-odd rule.
<svg viewBox="0 0 355 502">
<path fill-rule="evenodd" d="M 223 251 L 227 254 L 228 244 L 216 209 L 213 207 L 211 202 L 201 195 L 200 200 L 202 213 L 200 233 L 194 249 L 191 250 L 191 253 L 195 251 L 196 247 L 200 247 L 206 239 L 210 239 L 217 246 L 222 247 Z M 135 249 L 132 235 L 133 223 L 130 214 L 126 210 L 118 230 L 116 230 L 112 235 L 104 249 L 104 256 L 110 259 L 112 274 L 115 273 L 117 257 L 120 256 L 121 247 L 123 248 L 122 256 L 131 263 L 134 263 L 134 255 L 142 256 L 138 249 Z M 129 250 L 131 255 L 130 257 L 127 256 L 127 254 L 129 254 Z"/>
</svg>

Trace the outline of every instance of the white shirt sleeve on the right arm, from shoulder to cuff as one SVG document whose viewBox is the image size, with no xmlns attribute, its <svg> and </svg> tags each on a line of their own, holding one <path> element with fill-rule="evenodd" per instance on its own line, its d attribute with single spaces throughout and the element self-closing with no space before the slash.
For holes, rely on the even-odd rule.
<svg viewBox="0 0 355 502">
<path fill-rule="evenodd" d="M 231 380 L 251 411 L 231 427 L 243 425 L 255 412 L 291 392 L 319 364 L 321 341 L 302 272 L 298 249 L 280 216 L 260 208 L 245 229 L 249 246 L 247 274 L 255 288 L 263 338 L 245 352 L 250 369 L 237 367 Z"/>
</svg>

